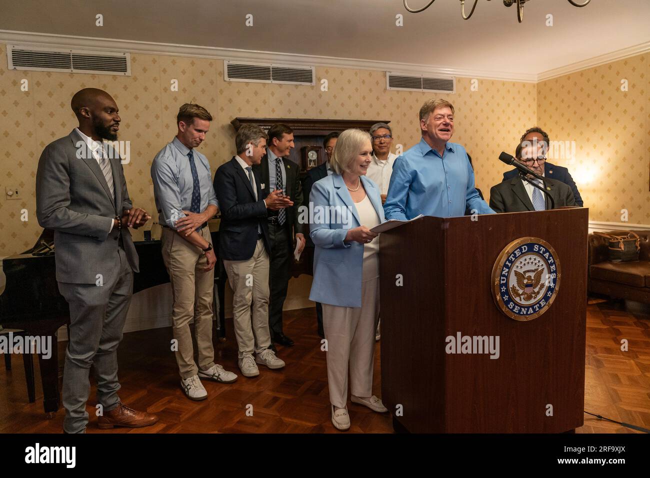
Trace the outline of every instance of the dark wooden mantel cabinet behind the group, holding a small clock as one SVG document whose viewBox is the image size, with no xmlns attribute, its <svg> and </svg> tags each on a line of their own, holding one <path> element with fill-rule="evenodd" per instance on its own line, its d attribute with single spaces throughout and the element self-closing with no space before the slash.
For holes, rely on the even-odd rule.
<svg viewBox="0 0 650 478">
<path fill-rule="evenodd" d="M 243 124 L 256 124 L 265 131 L 268 131 L 272 125 L 276 123 L 283 123 L 291 127 L 293 130 L 294 144 L 295 148 L 291 150 L 289 159 L 296 163 L 300 167 L 300 180 L 304 182 L 305 175 L 307 172 L 303 169 L 302 165 L 302 148 L 304 146 L 323 146 L 323 139 L 333 131 L 341 133 L 342 131 L 350 128 L 363 129 L 364 131 L 369 131 L 370 126 L 375 123 L 389 123 L 389 120 L 316 120 L 313 118 L 310 119 L 300 119 L 300 118 L 235 118 L 230 122 L 231 125 L 235 128 L 235 132 Z M 321 155 L 321 163 L 326 160 L 326 155 L 323 153 Z M 307 199 L 304 198 L 305 205 L 307 204 Z M 294 277 L 300 276 L 300 274 L 310 274 L 312 273 L 314 257 L 314 248 L 305 247 L 302 255 L 300 256 L 300 261 L 298 263 L 293 263 L 291 267 L 291 275 Z"/>
</svg>

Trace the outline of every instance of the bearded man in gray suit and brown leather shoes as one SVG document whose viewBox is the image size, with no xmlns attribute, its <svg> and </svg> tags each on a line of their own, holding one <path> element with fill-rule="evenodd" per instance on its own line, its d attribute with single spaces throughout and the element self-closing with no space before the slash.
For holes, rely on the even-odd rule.
<svg viewBox="0 0 650 478">
<path fill-rule="evenodd" d="M 117 349 L 138 272 L 129 227 L 151 217 L 131 204 L 120 157 L 103 142 L 117 139 L 115 101 L 105 91 L 85 88 L 71 106 L 79 127 L 45 146 L 36 172 L 38 223 L 54 230 L 59 291 L 70 305 L 63 429 L 86 431 L 91 365 L 99 428 L 146 427 L 157 416 L 124 406 L 118 397 Z"/>
</svg>

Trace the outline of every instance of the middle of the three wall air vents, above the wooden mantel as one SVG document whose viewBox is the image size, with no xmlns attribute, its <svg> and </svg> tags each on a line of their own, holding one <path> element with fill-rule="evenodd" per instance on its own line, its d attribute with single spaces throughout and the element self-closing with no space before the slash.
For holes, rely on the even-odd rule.
<svg viewBox="0 0 650 478">
<path fill-rule="evenodd" d="M 247 83 L 284 83 L 286 85 L 315 85 L 313 66 L 249 63 L 224 60 L 226 81 Z"/>
</svg>

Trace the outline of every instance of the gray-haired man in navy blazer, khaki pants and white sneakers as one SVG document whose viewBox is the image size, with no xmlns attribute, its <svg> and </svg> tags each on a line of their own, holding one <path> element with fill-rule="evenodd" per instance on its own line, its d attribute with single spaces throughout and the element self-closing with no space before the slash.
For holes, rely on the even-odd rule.
<svg viewBox="0 0 650 478">
<path fill-rule="evenodd" d="M 214 191 L 221 209 L 219 254 L 233 289 L 233 323 L 244 377 L 259 375 L 257 364 L 270 369 L 285 366 L 270 349 L 266 209 L 291 207 L 293 203 L 275 191 L 263 199 L 259 174 L 252 166 L 259 165 L 265 154 L 266 138 L 259 126 L 240 127 L 235 139 L 237 155 L 214 174 Z"/>
</svg>

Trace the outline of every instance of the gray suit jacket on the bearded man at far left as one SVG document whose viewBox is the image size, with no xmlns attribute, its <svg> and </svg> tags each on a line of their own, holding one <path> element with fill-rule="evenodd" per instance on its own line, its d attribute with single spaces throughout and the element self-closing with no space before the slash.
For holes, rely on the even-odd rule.
<svg viewBox="0 0 650 478">
<path fill-rule="evenodd" d="M 38 224 L 54 230 L 57 281 L 95 284 L 120 271 L 118 235 L 129 265 L 138 272 L 138 254 L 128 228 L 109 235 L 110 219 L 131 209 L 122 164 L 108 148 L 115 201 L 97 160 L 79 133 L 51 142 L 41 154 L 36 172 Z"/>
</svg>

